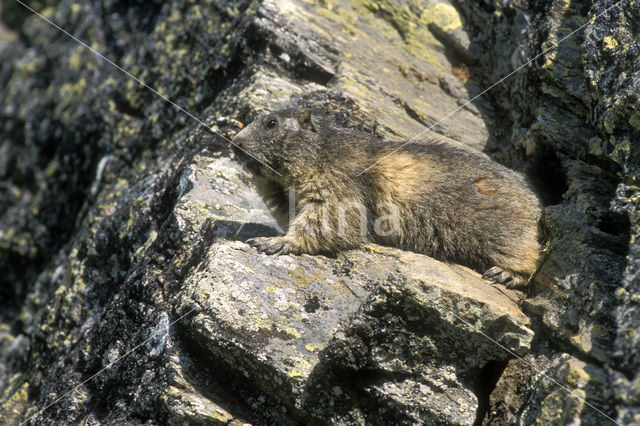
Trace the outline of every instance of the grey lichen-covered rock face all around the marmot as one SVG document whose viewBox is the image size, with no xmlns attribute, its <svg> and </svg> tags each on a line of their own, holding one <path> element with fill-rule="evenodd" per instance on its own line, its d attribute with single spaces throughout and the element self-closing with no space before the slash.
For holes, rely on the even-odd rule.
<svg viewBox="0 0 640 426">
<path fill-rule="evenodd" d="M 33 2 L 153 93 L 3 2 L 0 423 L 640 423 L 640 2 L 614 5 Z M 277 225 L 202 124 L 301 104 L 530 173 L 526 292 L 245 244 Z"/>
</svg>

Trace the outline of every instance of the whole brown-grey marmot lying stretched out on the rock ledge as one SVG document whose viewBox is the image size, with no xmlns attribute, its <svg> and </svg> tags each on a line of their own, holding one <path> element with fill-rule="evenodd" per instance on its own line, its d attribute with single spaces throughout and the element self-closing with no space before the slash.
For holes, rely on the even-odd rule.
<svg viewBox="0 0 640 426">
<path fill-rule="evenodd" d="M 397 143 L 310 109 L 264 116 L 233 142 L 255 156 L 236 149 L 286 230 L 249 241 L 261 251 L 335 253 L 374 242 L 486 271 L 510 287 L 538 265 L 537 197 L 521 175 L 480 154 L 434 141 L 393 152 Z"/>
</svg>

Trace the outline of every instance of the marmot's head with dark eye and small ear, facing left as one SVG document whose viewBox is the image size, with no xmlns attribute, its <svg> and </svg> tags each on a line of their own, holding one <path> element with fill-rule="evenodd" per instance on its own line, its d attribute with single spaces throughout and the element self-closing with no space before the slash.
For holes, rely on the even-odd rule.
<svg viewBox="0 0 640 426">
<path fill-rule="evenodd" d="M 277 111 L 258 118 L 238 133 L 233 138 L 237 145 L 234 151 L 254 173 L 268 176 L 275 170 L 289 174 L 307 167 L 316 158 L 317 125 L 318 118 L 312 117 L 309 108 Z"/>
</svg>

